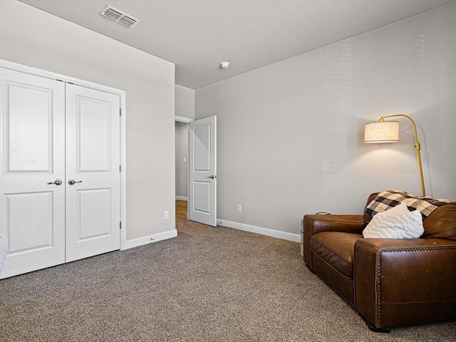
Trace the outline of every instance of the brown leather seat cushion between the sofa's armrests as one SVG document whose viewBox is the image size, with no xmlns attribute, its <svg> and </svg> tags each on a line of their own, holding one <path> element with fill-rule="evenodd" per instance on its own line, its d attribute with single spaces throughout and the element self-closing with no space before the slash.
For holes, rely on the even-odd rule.
<svg viewBox="0 0 456 342">
<path fill-rule="evenodd" d="M 320 232 L 312 235 L 311 251 L 333 266 L 339 273 L 353 279 L 353 254 L 362 234 Z"/>
</svg>

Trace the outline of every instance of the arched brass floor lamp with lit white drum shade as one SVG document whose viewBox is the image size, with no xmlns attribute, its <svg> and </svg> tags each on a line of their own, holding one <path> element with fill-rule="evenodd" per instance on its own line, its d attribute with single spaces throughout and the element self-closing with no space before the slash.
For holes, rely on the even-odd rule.
<svg viewBox="0 0 456 342">
<path fill-rule="evenodd" d="M 386 118 L 396 118 L 402 116 L 408 118 L 413 125 L 413 133 L 415 135 L 415 147 L 418 155 L 418 168 L 420 170 L 421 190 L 423 190 L 423 196 L 425 192 L 425 182 L 423 180 L 423 168 L 421 167 L 421 155 L 420 155 L 420 142 L 418 142 L 418 135 L 416 133 L 415 122 L 410 116 L 404 114 L 382 116 L 378 119 L 378 123 L 366 123 L 364 125 L 364 142 L 365 143 L 383 143 L 383 142 L 398 142 L 399 141 L 399 123 L 398 121 L 385 121 Z"/>
</svg>

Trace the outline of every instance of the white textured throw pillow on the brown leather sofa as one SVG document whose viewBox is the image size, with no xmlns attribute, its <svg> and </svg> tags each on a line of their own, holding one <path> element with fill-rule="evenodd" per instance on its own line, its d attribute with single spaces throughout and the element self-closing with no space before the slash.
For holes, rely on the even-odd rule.
<svg viewBox="0 0 456 342">
<path fill-rule="evenodd" d="M 418 210 L 410 212 L 407 204 L 375 214 L 363 230 L 363 237 L 380 239 L 416 239 L 425 232 Z"/>
</svg>

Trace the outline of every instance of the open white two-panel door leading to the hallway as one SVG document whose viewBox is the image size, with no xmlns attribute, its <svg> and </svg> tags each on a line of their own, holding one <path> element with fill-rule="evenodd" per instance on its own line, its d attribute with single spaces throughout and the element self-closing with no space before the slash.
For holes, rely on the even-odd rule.
<svg viewBox="0 0 456 342">
<path fill-rule="evenodd" d="M 190 123 L 188 218 L 217 226 L 217 117 Z"/>
</svg>

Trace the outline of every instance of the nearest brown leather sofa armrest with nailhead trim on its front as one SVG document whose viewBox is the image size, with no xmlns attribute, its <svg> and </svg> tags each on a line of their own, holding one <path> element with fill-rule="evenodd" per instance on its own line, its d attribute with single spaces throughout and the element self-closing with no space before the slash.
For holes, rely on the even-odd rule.
<svg viewBox="0 0 456 342">
<path fill-rule="evenodd" d="M 375 328 L 455 319 L 456 242 L 360 239 L 355 308 Z"/>
</svg>

